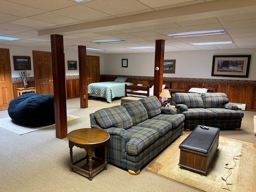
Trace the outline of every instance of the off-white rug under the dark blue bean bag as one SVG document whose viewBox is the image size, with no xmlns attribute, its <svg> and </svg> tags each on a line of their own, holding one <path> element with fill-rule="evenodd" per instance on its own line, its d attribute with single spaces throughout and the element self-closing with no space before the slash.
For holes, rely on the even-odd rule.
<svg viewBox="0 0 256 192">
<path fill-rule="evenodd" d="M 78 118 L 80 118 L 80 117 L 75 116 L 75 115 L 67 114 L 67 121 L 71 121 L 71 120 L 78 119 Z M 19 125 L 19 124 L 15 124 L 10 117 L 0 119 L 0 127 L 1 128 L 6 129 L 10 132 L 13 132 L 17 135 L 23 135 L 23 134 L 26 134 L 26 133 L 30 133 L 30 132 L 33 132 L 33 131 L 44 129 L 44 128 L 54 126 L 54 125 L 55 124 L 48 125 L 48 126 L 43 126 L 43 127 L 28 127 L 28 126 L 22 126 L 22 125 Z"/>
</svg>

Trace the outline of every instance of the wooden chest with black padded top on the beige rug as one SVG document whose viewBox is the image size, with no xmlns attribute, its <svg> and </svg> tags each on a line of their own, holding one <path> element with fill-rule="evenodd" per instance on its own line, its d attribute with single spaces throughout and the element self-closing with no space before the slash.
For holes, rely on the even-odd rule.
<svg viewBox="0 0 256 192">
<path fill-rule="evenodd" d="M 218 148 L 220 129 L 198 125 L 180 144 L 179 166 L 188 170 L 206 174 Z"/>
</svg>

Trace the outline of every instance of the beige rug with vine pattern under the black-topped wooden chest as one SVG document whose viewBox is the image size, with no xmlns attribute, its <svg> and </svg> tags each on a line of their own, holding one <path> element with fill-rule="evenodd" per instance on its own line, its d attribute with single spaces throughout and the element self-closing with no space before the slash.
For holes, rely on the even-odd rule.
<svg viewBox="0 0 256 192">
<path fill-rule="evenodd" d="M 218 150 L 205 176 L 178 166 L 184 133 L 146 171 L 205 192 L 256 191 L 256 144 L 220 137 Z"/>
</svg>

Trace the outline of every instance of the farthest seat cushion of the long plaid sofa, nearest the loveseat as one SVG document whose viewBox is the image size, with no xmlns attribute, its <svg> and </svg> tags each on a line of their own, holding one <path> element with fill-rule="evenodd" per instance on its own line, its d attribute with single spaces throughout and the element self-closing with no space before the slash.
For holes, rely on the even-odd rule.
<svg viewBox="0 0 256 192">
<path fill-rule="evenodd" d="M 184 114 L 176 114 L 176 115 L 168 115 L 168 114 L 160 114 L 158 116 L 153 117 L 154 120 L 164 120 L 170 122 L 172 124 L 172 128 L 177 128 L 182 122 L 185 120 Z"/>
</svg>

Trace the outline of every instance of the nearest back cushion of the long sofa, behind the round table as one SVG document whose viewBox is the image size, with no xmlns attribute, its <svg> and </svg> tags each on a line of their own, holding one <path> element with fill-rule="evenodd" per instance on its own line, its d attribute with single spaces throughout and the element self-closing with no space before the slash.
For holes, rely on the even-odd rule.
<svg viewBox="0 0 256 192">
<path fill-rule="evenodd" d="M 132 126 L 132 118 L 123 106 L 103 108 L 94 113 L 94 116 L 104 129 L 117 127 L 128 129 Z"/>
</svg>

